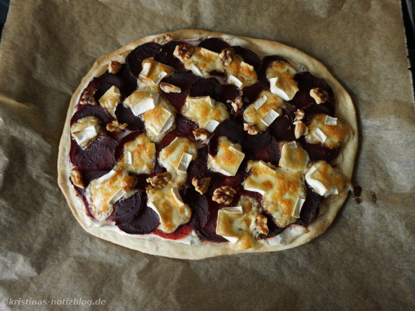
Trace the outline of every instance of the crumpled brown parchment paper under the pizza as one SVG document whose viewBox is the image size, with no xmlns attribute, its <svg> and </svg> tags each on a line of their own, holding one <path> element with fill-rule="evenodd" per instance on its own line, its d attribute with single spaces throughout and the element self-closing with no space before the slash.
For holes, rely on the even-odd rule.
<svg viewBox="0 0 415 311">
<path fill-rule="evenodd" d="M 349 198 L 326 233 L 276 253 L 175 260 L 84 232 L 56 181 L 70 97 L 99 56 L 184 28 L 277 40 L 323 62 L 358 112 L 353 183 L 363 202 Z M 408 67 L 399 1 L 11 1 L 0 49 L 0 298 L 9 304 L 0 309 L 89 310 L 10 305 L 17 299 L 101 299 L 111 310 L 413 309 Z"/>
</svg>

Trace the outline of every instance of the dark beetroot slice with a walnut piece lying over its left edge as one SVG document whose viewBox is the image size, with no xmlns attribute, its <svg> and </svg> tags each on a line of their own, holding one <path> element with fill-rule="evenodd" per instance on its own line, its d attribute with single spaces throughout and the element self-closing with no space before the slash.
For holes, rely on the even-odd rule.
<svg viewBox="0 0 415 311">
<path fill-rule="evenodd" d="M 173 84 L 175 86 L 180 87 L 180 93 L 165 93 L 162 92 L 164 98 L 168 100 L 168 102 L 180 111 L 183 107 L 184 103 L 186 102 L 186 97 L 189 95 L 190 88 L 196 80 L 200 79 L 194 75 L 184 74 L 184 73 L 176 73 L 167 77 L 163 80 L 163 82 Z"/>
</svg>

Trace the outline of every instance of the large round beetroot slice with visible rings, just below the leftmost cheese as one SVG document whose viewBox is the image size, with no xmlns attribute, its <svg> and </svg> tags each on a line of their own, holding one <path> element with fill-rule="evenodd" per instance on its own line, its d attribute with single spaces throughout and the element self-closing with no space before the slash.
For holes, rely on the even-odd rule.
<svg viewBox="0 0 415 311">
<path fill-rule="evenodd" d="M 114 151 L 117 141 L 107 136 L 98 136 L 80 156 L 76 165 L 84 175 L 90 171 L 109 171 L 115 165 Z"/>
</svg>

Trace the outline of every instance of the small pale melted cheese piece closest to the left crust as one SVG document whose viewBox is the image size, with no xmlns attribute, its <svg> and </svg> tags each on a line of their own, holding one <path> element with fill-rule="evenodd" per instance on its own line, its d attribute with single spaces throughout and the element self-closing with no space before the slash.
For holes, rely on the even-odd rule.
<svg viewBox="0 0 415 311">
<path fill-rule="evenodd" d="M 100 130 L 97 117 L 82 117 L 71 125 L 71 134 L 78 145 L 86 147 L 97 135 Z"/>
</svg>

